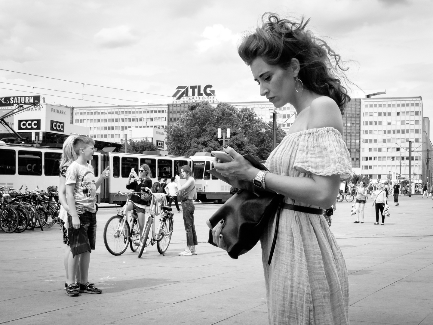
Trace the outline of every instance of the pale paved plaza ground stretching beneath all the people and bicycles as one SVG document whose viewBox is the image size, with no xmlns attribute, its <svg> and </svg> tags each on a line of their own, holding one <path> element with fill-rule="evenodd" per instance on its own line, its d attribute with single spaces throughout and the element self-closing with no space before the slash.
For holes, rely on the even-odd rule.
<svg viewBox="0 0 433 325">
<path fill-rule="evenodd" d="M 374 225 L 372 200 L 365 223 L 354 224 L 352 203 L 337 203 L 332 231 L 346 258 L 352 325 L 433 324 L 433 201 L 400 197 L 385 225 Z M 207 244 L 205 221 L 220 205 L 197 204 L 197 256 L 185 247 L 181 214 L 165 256 L 156 246 L 141 259 L 129 248 L 107 252 L 103 226 L 116 213 L 98 211 L 97 247 L 89 280 L 100 295 L 68 297 L 62 232 L 0 231 L 0 324 L 267 324 L 260 245 L 233 260 Z M 290 252 L 288 252 L 290 253 Z"/>
</svg>

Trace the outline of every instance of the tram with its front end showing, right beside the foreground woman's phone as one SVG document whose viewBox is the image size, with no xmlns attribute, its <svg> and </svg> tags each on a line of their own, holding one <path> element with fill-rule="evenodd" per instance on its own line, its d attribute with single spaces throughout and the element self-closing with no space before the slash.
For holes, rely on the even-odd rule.
<svg viewBox="0 0 433 325">
<path fill-rule="evenodd" d="M 227 201 L 231 197 L 231 185 L 207 172 L 213 168 L 212 154 L 196 153 L 190 156 L 190 159 L 192 160 L 197 199 L 202 202 L 215 203 Z"/>
</svg>

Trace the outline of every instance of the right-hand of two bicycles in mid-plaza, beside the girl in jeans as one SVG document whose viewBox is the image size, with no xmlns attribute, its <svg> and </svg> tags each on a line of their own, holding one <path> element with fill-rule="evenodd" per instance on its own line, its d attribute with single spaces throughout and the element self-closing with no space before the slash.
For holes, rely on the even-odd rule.
<svg viewBox="0 0 433 325">
<path fill-rule="evenodd" d="M 152 191 L 150 192 L 152 193 Z M 152 195 L 154 194 L 152 193 Z M 172 208 L 169 206 L 161 206 L 161 218 L 159 218 L 159 227 L 157 229 L 155 227 L 155 216 L 153 214 L 149 215 L 149 218 L 147 218 L 146 226 L 143 228 L 143 232 L 140 236 L 138 258 L 141 258 L 145 247 L 149 246 L 149 244 L 153 246 L 155 243 L 158 249 L 158 253 L 162 254 L 162 256 L 165 256 L 165 252 L 168 249 L 171 235 L 173 233 L 174 214 L 170 212 L 171 210 Z M 150 227 L 152 227 L 152 237 L 148 242 Z"/>
</svg>

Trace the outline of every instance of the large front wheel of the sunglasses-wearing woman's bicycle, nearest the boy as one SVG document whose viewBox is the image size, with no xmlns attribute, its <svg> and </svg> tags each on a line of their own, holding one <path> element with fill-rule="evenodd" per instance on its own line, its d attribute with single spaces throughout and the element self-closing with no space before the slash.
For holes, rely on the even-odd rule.
<svg viewBox="0 0 433 325">
<path fill-rule="evenodd" d="M 104 227 L 105 247 L 110 254 L 116 256 L 123 254 L 129 243 L 129 224 L 125 221 L 122 227 L 122 221 L 123 218 L 120 215 L 113 215 Z"/>
</svg>

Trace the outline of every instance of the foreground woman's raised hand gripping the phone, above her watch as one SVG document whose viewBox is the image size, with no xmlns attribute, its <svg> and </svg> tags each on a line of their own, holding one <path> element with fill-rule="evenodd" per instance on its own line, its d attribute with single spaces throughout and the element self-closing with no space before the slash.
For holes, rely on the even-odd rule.
<svg viewBox="0 0 433 325">
<path fill-rule="evenodd" d="M 213 159 L 213 166 L 216 171 L 229 179 L 241 179 L 251 182 L 259 169 L 253 167 L 251 163 L 242 155 L 237 153 L 233 148 L 226 146 L 224 151 L 233 157 L 231 162 L 218 162 L 218 159 Z"/>
</svg>

